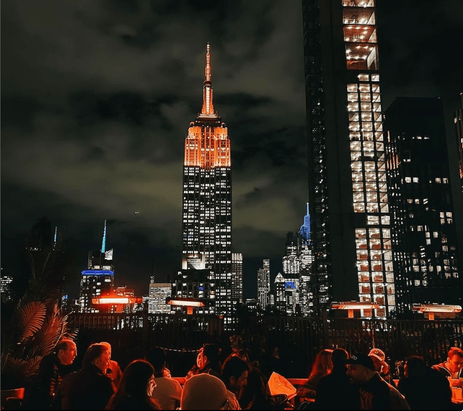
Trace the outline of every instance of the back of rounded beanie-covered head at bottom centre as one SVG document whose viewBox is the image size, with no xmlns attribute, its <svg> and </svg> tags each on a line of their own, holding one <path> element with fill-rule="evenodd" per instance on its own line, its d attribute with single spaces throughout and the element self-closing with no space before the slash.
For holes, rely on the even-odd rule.
<svg viewBox="0 0 463 411">
<path fill-rule="evenodd" d="M 181 409 L 221 409 L 227 400 L 225 384 L 207 373 L 185 381 L 180 399 Z"/>
</svg>

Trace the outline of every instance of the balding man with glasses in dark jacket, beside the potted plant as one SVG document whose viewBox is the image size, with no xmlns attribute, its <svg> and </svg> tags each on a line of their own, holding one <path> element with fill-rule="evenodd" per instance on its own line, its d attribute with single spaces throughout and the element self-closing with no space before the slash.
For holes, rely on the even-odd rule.
<svg viewBox="0 0 463 411">
<path fill-rule="evenodd" d="M 26 399 L 26 408 L 29 405 L 33 405 L 35 409 L 50 408 L 63 377 L 73 371 L 72 363 L 76 356 L 77 346 L 74 341 L 64 338 L 56 344 L 52 353 L 42 358 L 35 389 L 30 398 Z"/>
</svg>

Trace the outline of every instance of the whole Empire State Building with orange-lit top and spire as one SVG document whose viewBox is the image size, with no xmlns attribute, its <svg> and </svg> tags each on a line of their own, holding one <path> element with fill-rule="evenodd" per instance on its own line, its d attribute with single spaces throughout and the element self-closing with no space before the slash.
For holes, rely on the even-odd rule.
<svg viewBox="0 0 463 411">
<path fill-rule="evenodd" d="M 209 44 L 203 106 L 185 138 L 182 213 L 182 268 L 210 270 L 211 311 L 228 314 L 232 310 L 230 140 L 214 110 Z"/>
</svg>

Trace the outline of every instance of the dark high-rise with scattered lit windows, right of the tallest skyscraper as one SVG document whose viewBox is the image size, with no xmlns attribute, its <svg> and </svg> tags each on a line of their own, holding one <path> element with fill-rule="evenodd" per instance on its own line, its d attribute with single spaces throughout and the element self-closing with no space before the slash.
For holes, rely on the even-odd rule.
<svg viewBox="0 0 463 411">
<path fill-rule="evenodd" d="M 388 299 L 395 294 L 398 312 L 411 311 L 414 303 L 461 304 L 442 101 L 397 98 L 385 111 L 384 128 L 395 261 L 395 291 L 387 286 Z M 381 269 L 374 265 L 374 274 Z M 383 284 L 373 291 L 382 294 Z"/>
</svg>

